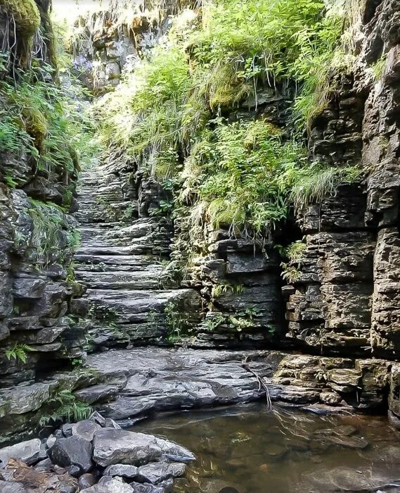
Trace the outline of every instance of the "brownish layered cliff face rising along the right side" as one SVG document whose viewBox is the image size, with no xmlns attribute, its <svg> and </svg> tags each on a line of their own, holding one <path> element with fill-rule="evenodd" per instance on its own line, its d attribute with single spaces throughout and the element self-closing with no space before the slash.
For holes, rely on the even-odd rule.
<svg viewBox="0 0 400 493">
<path fill-rule="evenodd" d="M 366 2 L 354 76 L 311 130 L 316 158 L 361 160 L 368 177 L 299 214 L 307 249 L 285 292 L 306 347 L 399 356 L 399 30 L 396 1 Z"/>
</svg>

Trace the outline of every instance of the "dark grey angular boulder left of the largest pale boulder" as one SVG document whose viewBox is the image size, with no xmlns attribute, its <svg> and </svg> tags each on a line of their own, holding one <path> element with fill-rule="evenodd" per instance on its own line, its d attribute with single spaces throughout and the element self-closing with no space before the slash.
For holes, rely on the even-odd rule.
<svg viewBox="0 0 400 493">
<path fill-rule="evenodd" d="M 92 451 L 91 442 L 75 435 L 58 439 L 53 447 L 49 449 L 49 457 L 53 463 L 63 468 L 74 466 L 74 475 L 76 475 L 87 473 L 91 470 L 93 466 L 91 461 Z"/>
</svg>

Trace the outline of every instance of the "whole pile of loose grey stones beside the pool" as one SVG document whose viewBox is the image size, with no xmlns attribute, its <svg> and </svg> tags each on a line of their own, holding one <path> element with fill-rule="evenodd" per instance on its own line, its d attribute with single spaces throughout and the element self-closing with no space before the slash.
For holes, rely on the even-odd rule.
<svg viewBox="0 0 400 493">
<path fill-rule="evenodd" d="M 0 449 L 2 493 L 168 493 L 195 457 L 99 413 L 50 437 Z"/>
</svg>

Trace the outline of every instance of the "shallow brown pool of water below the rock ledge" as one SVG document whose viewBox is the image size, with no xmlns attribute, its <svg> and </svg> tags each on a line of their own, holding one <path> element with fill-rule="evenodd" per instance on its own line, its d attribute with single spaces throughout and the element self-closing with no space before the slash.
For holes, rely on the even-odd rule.
<svg viewBox="0 0 400 493">
<path fill-rule="evenodd" d="M 400 492 L 400 435 L 386 418 L 247 404 L 158 416 L 133 429 L 195 453 L 174 492 Z"/>
</svg>

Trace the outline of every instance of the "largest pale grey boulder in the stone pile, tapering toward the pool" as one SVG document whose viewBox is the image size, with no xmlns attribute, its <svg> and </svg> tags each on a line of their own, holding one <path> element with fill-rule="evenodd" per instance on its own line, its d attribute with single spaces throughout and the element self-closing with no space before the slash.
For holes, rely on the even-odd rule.
<svg viewBox="0 0 400 493">
<path fill-rule="evenodd" d="M 162 438 L 103 428 L 94 435 L 93 459 L 98 466 L 113 464 L 132 464 L 141 466 L 151 461 L 158 461 L 163 456 L 173 457 L 175 461 L 193 461 L 195 456 L 174 442 Z"/>
</svg>

